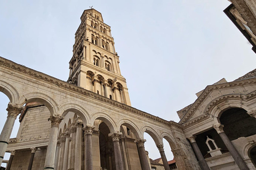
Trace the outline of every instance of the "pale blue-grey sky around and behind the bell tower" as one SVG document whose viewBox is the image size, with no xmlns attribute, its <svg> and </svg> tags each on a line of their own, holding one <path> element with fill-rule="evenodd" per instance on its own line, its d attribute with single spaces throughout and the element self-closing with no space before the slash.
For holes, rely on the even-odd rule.
<svg viewBox="0 0 256 170">
<path fill-rule="evenodd" d="M 93 5 L 110 25 L 132 106 L 179 122 L 176 111 L 222 78 L 255 69 L 256 55 L 223 13 L 227 0 L 0 1 L 0 56 L 67 81 L 74 34 Z M 2 129 L 9 100 L 0 94 Z M 12 137 L 17 134 L 17 127 Z M 146 150 L 160 157 L 145 134 Z M 172 159 L 165 141 L 167 159 Z"/>
</svg>

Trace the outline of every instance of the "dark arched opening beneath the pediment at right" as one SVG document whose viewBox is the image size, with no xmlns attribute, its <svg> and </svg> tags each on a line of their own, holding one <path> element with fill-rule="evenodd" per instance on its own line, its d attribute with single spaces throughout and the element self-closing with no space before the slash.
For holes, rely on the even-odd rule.
<svg viewBox="0 0 256 170">
<path fill-rule="evenodd" d="M 223 130 L 229 140 L 256 134 L 255 118 L 247 114 L 243 108 L 230 108 L 223 112 L 220 116 L 220 123 L 224 125 Z"/>
</svg>

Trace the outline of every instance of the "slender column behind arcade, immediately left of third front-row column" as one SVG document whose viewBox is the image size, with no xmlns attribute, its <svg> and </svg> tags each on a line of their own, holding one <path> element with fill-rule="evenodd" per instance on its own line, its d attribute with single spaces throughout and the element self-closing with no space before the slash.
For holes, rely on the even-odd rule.
<svg viewBox="0 0 256 170">
<path fill-rule="evenodd" d="M 75 170 L 81 170 L 82 122 L 76 122 Z"/>
</svg>

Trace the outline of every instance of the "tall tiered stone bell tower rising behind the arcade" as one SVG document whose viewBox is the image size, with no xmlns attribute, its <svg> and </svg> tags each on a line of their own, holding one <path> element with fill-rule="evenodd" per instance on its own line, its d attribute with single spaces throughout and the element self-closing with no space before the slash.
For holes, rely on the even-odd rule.
<svg viewBox="0 0 256 170">
<path fill-rule="evenodd" d="M 126 80 L 121 75 L 119 56 L 109 25 L 100 12 L 85 10 L 75 33 L 68 82 L 109 99 L 131 105 Z"/>
</svg>

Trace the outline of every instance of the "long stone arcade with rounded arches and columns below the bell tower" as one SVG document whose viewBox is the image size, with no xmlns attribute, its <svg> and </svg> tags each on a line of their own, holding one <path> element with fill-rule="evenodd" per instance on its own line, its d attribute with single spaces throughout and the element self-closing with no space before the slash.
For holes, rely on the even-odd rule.
<svg viewBox="0 0 256 170">
<path fill-rule="evenodd" d="M 97 160 L 94 161 L 94 150 L 92 149 L 94 146 L 92 141 L 94 140 L 94 133 L 97 134 L 97 131 L 100 128 L 100 126 L 97 127 L 97 123 L 101 124 L 101 122 L 103 122 L 109 129 L 109 137 L 111 137 L 113 140 L 113 149 L 115 151 L 115 159 L 112 163 L 113 169 L 122 169 L 121 167 L 123 167 L 123 169 L 127 169 L 129 166 L 130 168 L 133 166 L 131 163 L 127 163 L 129 160 L 122 160 L 122 157 L 124 157 L 124 151 L 122 147 L 125 146 L 122 145 L 122 138 L 119 137 L 121 134 L 123 137 L 126 136 L 124 132 L 121 133 L 122 126 L 125 126 L 131 130 L 133 135 L 132 137 L 134 138 L 133 143 L 138 143 L 138 158 L 140 160 L 139 165 L 141 164 L 142 169 L 148 169 L 149 167 L 146 152 L 143 148 L 143 143 L 145 142 L 143 139 L 144 132 L 149 133 L 154 139 L 156 146 L 158 146 L 160 152 L 162 153 L 161 156 L 163 157 L 163 160 L 166 159 L 164 158 L 163 154 L 164 138 L 170 143 L 172 151 L 177 153 L 174 154 L 174 158 L 177 160 L 177 165 L 179 167 L 199 169 L 199 165 L 197 164 L 194 153 L 190 152 L 189 149 L 191 148 L 189 143 L 182 132 L 181 125 L 178 123 L 165 121 L 162 118 L 139 111 L 138 109 L 135 109 L 131 106 L 127 106 L 125 104 L 119 103 L 118 101 L 95 94 L 94 92 L 77 87 L 73 84 L 60 81 L 50 77 L 49 75 L 31 70 L 25 66 L 16 64 L 2 57 L 0 59 L 0 64 L 1 91 L 10 99 L 10 103 L 7 109 L 10 116 L 8 116 L 6 120 L 6 124 L 10 127 L 4 128 L 1 133 L 2 147 L 0 153 L 2 157 L 6 151 L 7 143 L 9 143 L 7 151 L 16 150 L 19 152 L 19 150 L 30 150 L 31 147 L 42 148 L 41 150 L 44 150 L 43 148 L 47 147 L 44 168 L 53 169 L 54 166 L 56 167 L 58 164 L 54 164 L 54 162 L 57 161 L 57 159 L 59 159 L 59 162 L 63 163 L 61 165 L 62 168 L 63 166 L 67 167 L 68 162 L 70 162 L 70 158 L 68 158 L 70 154 L 67 154 L 69 149 L 66 147 L 63 150 L 64 147 L 62 147 L 61 150 L 58 149 L 58 146 L 70 146 L 69 143 L 74 142 L 73 140 L 67 140 L 70 137 L 74 137 L 71 129 L 76 128 L 76 133 L 81 134 L 83 131 L 83 126 L 85 131 L 85 143 L 82 144 L 82 134 L 81 136 L 76 135 L 77 143 L 73 143 L 75 145 L 75 149 L 73 151 L 76 153 L 74 154 L 75 164 L 73 165 L 85 165 L 86 169 L 101 167 L 100 161 L 98 161 L 98 164 L 94 164 L 94 162 L 97 163 Z M 46 120 L 42 121 L 46 121 L 43 126 L 50 125 L 50 135 L 48 135 L 48 138 L 45 137 L 39 141 L 33 140 L 32 138 L 22 140 L 14 139 L 13 141 L 9 141 L 10 135 L 8 136 L 6 134 L 11 133 L 13 125 L 8 123 L 8 121 L 10 121 L 10 117 L 14 113 L 15 115 L 21 113 L 24 104 L 33 102 L 41 103 L 47 107 L 49 111 L 49 115 L 47 116 L 50 117 L 49 122 L 46 121 L 47 118 L 45 118 Z M 75 116 L 76 118 L 72 120 L 73 126 L 70 126 L 70 124 L 68 125 L 68 122 L 66 123 L 64 120 L 62 120 L 63 117 L 70 117 L 68 116 L 69 114 L 72 114 L 73 117 L 74 115 L 77 115 Z M 12 116 L 11 118 L 15 120 L 15 116 Z M 59 126 L 60 124 L 61 126 Z M 66 129 L 64 129 L 65 124 L 69 126 Z M 60 133 L 61 130 L 63 133 L 65 133 L 65 135 Z M 33 129 L 31 131 L 33 131 Z M 63 139 L 62 136 L 66 138 L 65 144 L 59 143 L 61 142 L 60 140 L 58 142 L 58 139 Z M 180 142 L 183 143 L 183 146 L 177 145 L 177 143 Z M 83 151 L 82 147 L 85 147 L 84 154 L 81 153 Z M 126 149 L 126 151 L 129 152 L 130 150 Z M 31 152 L 31 150 L 29 152 Z M 62 152 L 63 155 L 57 156 L 56 153 L 60 152 Z M 86 160 L 85 163 L 83 163 L 83 160 L 79 162 L 79 157 L 81 157 L 80 153 L 84 155 L 84 160 Z M 121 154 L 122 156 L 119 156 Z M 98 155 L 100 154 L 98 153 Z M 1 162 L 3 159 L 2 157 Z M 63 158 L 60 159 L 60 157 Z M 185 159 L 187 160 L 186 162 L 183 161 Z M 77 167 L 77 169 L 79 169 L 79 167 Z"/>
</svg>

